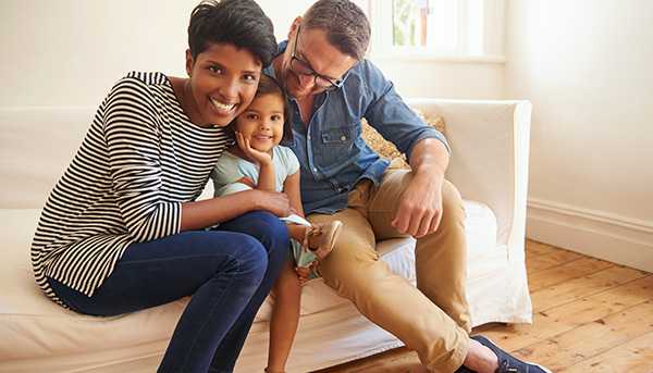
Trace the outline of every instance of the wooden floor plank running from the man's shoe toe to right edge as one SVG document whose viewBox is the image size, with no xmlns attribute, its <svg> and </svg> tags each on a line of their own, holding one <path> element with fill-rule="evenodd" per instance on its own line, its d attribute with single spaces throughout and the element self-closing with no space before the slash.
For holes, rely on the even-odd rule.
<svg viewBox="0 0 653 373">
<path fill-rule="evenodd" d="M 648 333 L 653 333 L 651 300 L 523 347 L 515 356 L 557 372 Z"/>
</svg>

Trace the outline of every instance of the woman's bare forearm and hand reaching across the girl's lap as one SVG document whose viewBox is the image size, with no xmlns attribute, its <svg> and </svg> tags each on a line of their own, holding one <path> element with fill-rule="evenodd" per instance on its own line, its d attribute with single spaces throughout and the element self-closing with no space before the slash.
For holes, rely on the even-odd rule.
<svg viewBox="0 0 653 373">
<path fill-rule="evenodd" d="M 266 210 L 276 216 L 291 213 L 288 198 L 284 194 L 251 189 L 182 203 L 181 231 L 201 229 L 255 210 Z"/>
</svg>

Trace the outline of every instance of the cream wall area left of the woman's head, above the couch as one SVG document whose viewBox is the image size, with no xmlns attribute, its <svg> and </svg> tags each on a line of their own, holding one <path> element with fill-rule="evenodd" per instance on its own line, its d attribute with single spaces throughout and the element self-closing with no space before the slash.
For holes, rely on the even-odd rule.
<svg viewBox="0 0 653 373">
<path fill-rule="evenodd" d="M 132 70 L 184 72 L 189 2 L 0 4 L 0 107 L 97 105 Z"/>
</svg>

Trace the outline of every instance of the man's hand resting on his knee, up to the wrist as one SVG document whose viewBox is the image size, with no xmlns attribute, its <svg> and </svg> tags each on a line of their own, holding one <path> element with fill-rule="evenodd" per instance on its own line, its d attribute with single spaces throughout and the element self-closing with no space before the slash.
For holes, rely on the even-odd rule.
<svg viewBox="0 0 653 373">
<path fill-rule="evenodd" d="M 392 225 L 401 233 L 420 238 L 438 229 L 442 219 L 444 178 L 416 175 L 404 190 Z"/>
</svg>

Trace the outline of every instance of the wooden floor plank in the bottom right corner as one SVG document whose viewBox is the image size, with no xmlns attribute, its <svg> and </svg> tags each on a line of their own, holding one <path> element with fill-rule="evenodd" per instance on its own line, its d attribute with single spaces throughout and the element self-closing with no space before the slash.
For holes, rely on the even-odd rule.
<svg viewBox="0 0 653 373">
<path fill-rule="evenodd" d="M 652 373 L 653 333 L 617 346 L 605 353 L 579 362 L 560 373 Z"/>
</svg>

